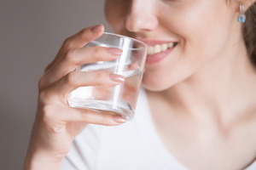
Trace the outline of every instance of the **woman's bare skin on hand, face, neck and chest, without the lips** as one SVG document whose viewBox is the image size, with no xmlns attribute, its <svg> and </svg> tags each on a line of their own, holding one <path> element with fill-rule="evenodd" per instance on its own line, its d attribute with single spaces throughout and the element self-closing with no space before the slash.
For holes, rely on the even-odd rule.
<svg viewBox="0 0 256 170">
<path fill-rule="evenodd" d="M 245 8 L 253 2 L 242 1 Z M 155 127 L 172 156 L 191 169 L 247 167 L 256 157 L 256 73 L 236 20 L 241 1 L 105 3 L 106 18 L 116 33 L 177 42 L 166 58 L 147 64 L 143 76 Z M 89 27 L 68 37 L 41 77 L 25 169 L 60 169 L 74 137 L 88 123 L 125 122 L 67 105 L 75 88 L 120 83 L 119 76 L 106 72 L 74 71 L 81 64 L 119 57 L 118 49 L 83 48 L 102 32 L 102 26 Z"/>
</svg>

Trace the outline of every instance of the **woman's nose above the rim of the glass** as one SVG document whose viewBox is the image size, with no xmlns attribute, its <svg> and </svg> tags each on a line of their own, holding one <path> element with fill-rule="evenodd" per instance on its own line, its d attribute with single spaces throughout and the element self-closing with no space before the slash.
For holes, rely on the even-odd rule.
<svg viewBox="0 0 256 170">
<path fill-rule="evenodd" d="M 153 0 L 131 0 L 130 10 L 125 18 L 128 31 L 152 31 L 158 26 L 156 7 Z"/>
</svg>

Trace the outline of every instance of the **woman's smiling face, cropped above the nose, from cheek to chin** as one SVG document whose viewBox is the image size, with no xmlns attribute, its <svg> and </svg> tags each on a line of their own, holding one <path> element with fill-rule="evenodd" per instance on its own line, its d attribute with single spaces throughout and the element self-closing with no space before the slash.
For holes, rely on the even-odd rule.
<svg viewBox="0 0 256 170">
<path fill-rule="evenodd" d="M 225 0 L 106 0 L 113 31 L 148 44 L 143 86 L 160 91 L 224 53 L 238 4 Z"/>
</svg>

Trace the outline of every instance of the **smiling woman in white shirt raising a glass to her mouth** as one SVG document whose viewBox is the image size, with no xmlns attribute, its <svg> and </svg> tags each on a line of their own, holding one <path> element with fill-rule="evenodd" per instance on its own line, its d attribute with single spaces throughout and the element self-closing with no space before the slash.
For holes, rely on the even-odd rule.
<svg viewBox="0 0 256 170">
<path fill-rule="evenodd" d="M 150 49 L 136 116 L 68 106 L 75 88 L 124 81 L 73 71 L 122 53 L 83 48 L 103 32 L 85 28 L 40 79 L 26 169 L 255 169 L 255 10 L 254 0 L 106 0 L 113 30 Z"/>
</svg>

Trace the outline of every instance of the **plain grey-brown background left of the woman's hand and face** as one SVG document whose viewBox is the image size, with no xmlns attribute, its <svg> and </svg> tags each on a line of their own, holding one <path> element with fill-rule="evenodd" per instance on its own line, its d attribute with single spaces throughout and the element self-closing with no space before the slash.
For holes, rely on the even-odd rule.
<svg viewBox="0 0 256 170">
<path fill-rule="evenodd" d="M 34 120 L 38 79 L 63 40 L 104 24 L 103 0 L 1 0 L 0 169 L 22 169 Z"/>
</svg>

